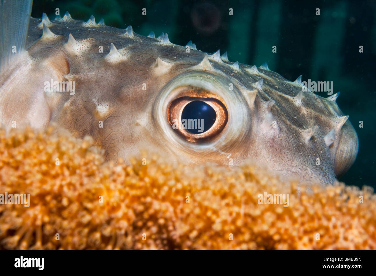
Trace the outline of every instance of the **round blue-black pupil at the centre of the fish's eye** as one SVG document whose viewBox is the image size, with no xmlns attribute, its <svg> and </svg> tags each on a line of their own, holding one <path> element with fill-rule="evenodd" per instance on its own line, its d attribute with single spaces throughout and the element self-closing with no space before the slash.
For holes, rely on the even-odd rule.
<svg viewBox="0 0 376 276">
<path fill-rule="evenodd" d="M 200 134 L 208 131 L 214 124 L 217 114 L 209 104 L 203 101 L 192 101 L 182 112 L 182 125 L 186 131 Z"/>
</svg>

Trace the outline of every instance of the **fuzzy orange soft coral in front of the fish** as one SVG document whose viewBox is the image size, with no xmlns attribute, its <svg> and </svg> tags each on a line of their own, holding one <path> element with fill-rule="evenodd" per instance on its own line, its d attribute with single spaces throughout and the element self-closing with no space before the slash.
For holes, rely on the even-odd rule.
<svg viewBox="0 0 376 276">
<path fill-rule="evenodd" d="M 0 205 L 2 248 L 376 249 L 370 187 L 306 189 L 252 164 L 157 154 L 105 163 L 92 144 L 54 127 L 1 131 L 0 193 L 30 194 L 28 208 Z M 264 192 L 288 194 L 289 207 L 258 204 Z"/>
</svg>

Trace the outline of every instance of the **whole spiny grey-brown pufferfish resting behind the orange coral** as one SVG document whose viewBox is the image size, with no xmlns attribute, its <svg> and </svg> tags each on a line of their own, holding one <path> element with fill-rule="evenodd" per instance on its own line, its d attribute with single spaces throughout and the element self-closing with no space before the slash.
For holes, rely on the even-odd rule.
<svg viewBox="0 0 376 276">
<path fill-rule="evenodd" d="M 253 159 L 323 185 L 355 161 L 358 137 L 338 94 L 315 95 L 301 76 L 289 81 L 266 63 L 233 63 L 219 50 L 204 53 L 192 42 L 145 37 L 93 16 L 32 18 L 26 2 L 1 7 L 0 121 L 7 129 L 56 122 L 76 137 L 92 136 L 107 160 L 148 146 L 187 166 Z M 5 12 L 16 5 L 18 16 Z"/>
</svg>

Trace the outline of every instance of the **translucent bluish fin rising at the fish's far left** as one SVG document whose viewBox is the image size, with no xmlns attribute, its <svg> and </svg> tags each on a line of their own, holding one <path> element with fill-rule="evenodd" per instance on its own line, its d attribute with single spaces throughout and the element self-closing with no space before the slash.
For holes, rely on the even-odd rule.
<svg viewBox="0 0 376 276">
<path fill-rule="evenodd" d="M 0 0 L 0 71 L 25 50 L 32 0 Z"/>
</svg>

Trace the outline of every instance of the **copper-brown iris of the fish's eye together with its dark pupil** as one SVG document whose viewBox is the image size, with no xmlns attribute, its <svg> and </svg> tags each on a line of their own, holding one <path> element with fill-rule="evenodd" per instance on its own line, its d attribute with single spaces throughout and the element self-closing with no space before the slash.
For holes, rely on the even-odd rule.
<svg viewBox="0 0 376 276">
<path fill-rule="evenodd" d="M 219 134 L 227 123 L 224 104 L 211 97 L 179 97 L 167 109 L 171 128 L 189 142 L 203 142 Z"/>
</svg>

